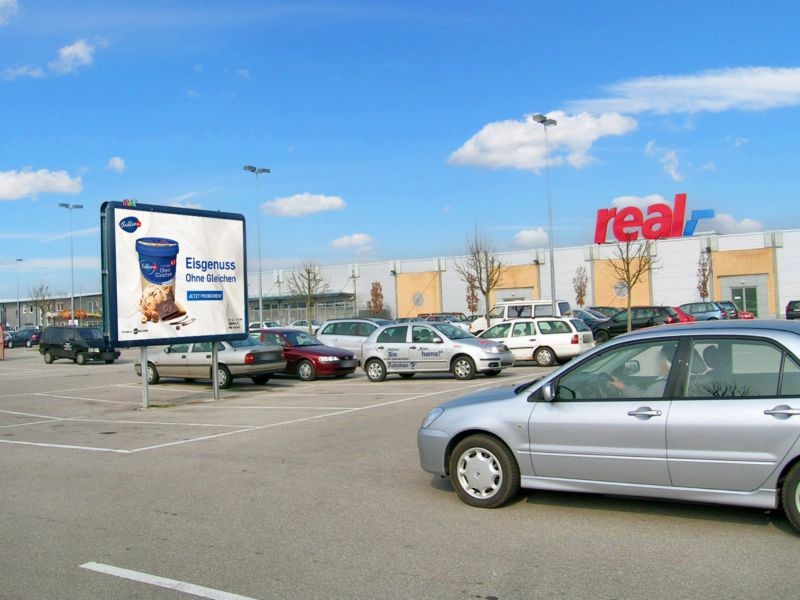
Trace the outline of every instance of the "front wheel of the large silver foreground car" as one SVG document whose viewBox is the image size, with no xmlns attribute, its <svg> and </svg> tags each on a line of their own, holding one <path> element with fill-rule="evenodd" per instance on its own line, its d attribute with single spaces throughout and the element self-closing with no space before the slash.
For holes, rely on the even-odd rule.
<svg viewBox="0 0 800 600">
<path fill-rule="evenodd" d="M 519 490 L 519 465 L 500 440 L 484 434 L 473 435 L 454 448 L 450 480 L 465 503 L 495 508 Z"/>
</svg>

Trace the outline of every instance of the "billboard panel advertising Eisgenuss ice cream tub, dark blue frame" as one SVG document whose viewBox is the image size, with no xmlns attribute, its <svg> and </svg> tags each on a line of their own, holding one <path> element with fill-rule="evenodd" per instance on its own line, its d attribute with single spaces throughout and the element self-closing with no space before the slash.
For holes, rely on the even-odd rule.
<svg viewBox="0 0 800 600">
<path fill-rule="evenodd" d="M 106 202 L 100 208 L 103 322 L 112 343 L 247 337 L 242 215 Z"/>
</svg>

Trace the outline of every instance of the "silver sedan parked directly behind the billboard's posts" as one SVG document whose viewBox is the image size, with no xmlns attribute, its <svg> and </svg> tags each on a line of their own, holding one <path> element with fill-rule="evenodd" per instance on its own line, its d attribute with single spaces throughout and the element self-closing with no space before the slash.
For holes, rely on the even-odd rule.
<svg viewBox="0 0 800 600">
<path fill-rule="evenodd" d="M 211 379 L 211 344 L 172 344 L 147 356 L 147 381 L 156 384 L 162 377 L 182 379 Z M 286 368 L 283 348 L 267 346 L 252 337 L 230 342 L 217 342 L 217 371 L 219 387 L 229 388 L 234 378 L 247 377 L 253 383 L 264 384 L 273 373 Z M 134 365 L 142 374 L 140 363 Z"/>
</svg>

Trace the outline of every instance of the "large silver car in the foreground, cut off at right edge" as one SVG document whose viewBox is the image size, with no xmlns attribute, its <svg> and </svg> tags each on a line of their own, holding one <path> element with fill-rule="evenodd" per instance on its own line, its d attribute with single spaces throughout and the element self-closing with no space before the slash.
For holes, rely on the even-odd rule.
<svg viewBox="0 0 800 600">
<path fill-rule="evenodd" d="M 781 507 L 800 530 L 800 323 L 621 336 L 540 379 L 434 408 L 422 468 L 473 506 L 520 487 Z"/>
</svg>

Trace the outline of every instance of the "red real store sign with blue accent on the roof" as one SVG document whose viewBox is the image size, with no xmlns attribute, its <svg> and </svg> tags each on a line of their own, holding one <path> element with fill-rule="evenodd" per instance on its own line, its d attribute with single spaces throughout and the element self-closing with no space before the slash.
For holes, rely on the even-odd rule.
<svg viewBox="0 0 800 600">
<path fill-rule="evenodd" d="M 646 211 L 646 214 L 645 214 Z M 692 218 L 686 220 L 686 194 L 675 194 L 675 206 L 659 202 L 651 204 L 645 211 L 637 206 L 601 208 L 597 211 L 594 243 L 605 244 L 608 225 L 619 242 L 639 239 L 657 240 L 667 237 L 682 237 L 694 234 L 700 219 L 713 219 L 713 209 L 693 210 Z"/>
</svg>

